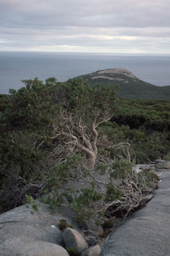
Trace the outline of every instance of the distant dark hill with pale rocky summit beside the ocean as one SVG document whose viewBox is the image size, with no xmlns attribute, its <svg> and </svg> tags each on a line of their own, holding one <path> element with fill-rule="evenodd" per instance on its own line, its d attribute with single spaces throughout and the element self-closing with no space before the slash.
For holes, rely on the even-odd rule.
<svg viewBox="0 0 170 256">
<path fill-rule="evenodd" d="M 170 85 L 163 87 L 152 85 L 138 79 L 126 69 L 104 69 L 80 77 L 87 79 L 91 85 L 119 84 L 118 96 L 122 98 L 170 100 Z"/>
</svg>

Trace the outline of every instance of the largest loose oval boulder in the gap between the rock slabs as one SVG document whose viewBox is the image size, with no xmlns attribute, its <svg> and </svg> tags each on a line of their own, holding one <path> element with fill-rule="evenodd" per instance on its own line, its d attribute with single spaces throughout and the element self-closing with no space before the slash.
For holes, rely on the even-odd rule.
<svg viewBox="0 0 170 256">
<path fill-rule="evenodd" d="M 78 249 L 80 253 L 88 249 L 88 245 L 84 237 L 82 237 L 82 235 L 78 233 L 78 231 L 70 229 L 70 227 L 64 229 L 62 233 L 62 238 L 65 243 L 65 248 L 74 247 Z"/>
</svg>

